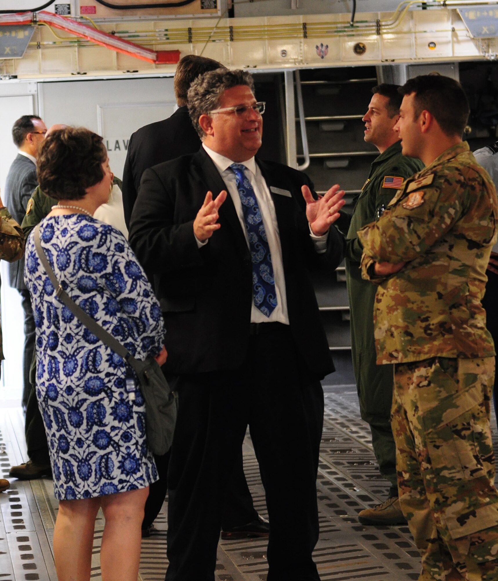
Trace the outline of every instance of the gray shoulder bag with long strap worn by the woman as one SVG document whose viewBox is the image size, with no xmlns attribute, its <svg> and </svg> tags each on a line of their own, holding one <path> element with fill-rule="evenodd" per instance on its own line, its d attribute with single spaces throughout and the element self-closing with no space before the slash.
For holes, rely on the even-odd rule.
<svg viewBox="0 0 498 581">
<path fill-rule="evenodd" d="M 168 382 L 152 357 L 140 361 L 121 345 L 110 333 L 103 329 L 79 307 L 60 286 L 55 273 L 50 267 L 39 239 L 39 224 L 33 231 L 35 248 L 39 259 L 55 289 L 56 296 L 77 317 L 86 328 L 98 337 L 105 345 L 122 357 L 135 371 L 140 383 L 140 392 L 145 400 L 147 443 L 150 450 L 162 456 L 171 447 L 176 421 L 176 394 L 169 388 Z"/>
</svg>

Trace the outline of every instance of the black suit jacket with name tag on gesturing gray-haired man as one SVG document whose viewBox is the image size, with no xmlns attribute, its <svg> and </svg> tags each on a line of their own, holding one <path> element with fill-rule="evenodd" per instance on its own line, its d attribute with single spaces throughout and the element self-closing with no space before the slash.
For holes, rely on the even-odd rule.
<svg viewBox="0 0 498 581">
<path fill-rule="evenodd" d="M 301 185 L 305 174 L 282 164 L 259 167 L 272 192 L 279 227 L 290 328 L 309 370 L 334 370 L 320 320 L 309 267 L 342 260 L 342 238 L 330 229 L 327 253 L 317 254 L 309 236 Z M 133 209 L 129 242 L 146 271 L 154 273 L 167 333 L 168 370 L 174 374 L 229 370 L 247 353 L 252 303 L 251 258 L 230 196 L 219 210 L 221 228 L 201 249 L 193 221 L 206 192 L 226 189 L 201 148 L 146 170 Z M 292 357 L 292 354 L 289 354 Z"/>
</svg>

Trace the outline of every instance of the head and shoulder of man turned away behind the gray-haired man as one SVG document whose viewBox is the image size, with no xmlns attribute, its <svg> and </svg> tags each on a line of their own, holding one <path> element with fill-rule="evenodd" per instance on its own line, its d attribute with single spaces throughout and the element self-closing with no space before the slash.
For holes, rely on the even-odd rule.
<svg viewBox="0 0 498 581">
<path fill-rule="evenodd" d="M 219 69 L 223 65 L 204 56 L 186 55 L 180 59 L 175 71 L 174 88 L 178 109 L 168 119 L 140 127 L 129 138 L 123 169 L 123 207 L 125 222 L 135 204 L 143 172 L 158 163 L 168 162 L 187 153 L 199 150 L 201 142 L 194 130 L 187 109 L 187 91 L 200 74 Z"/>
</svg>

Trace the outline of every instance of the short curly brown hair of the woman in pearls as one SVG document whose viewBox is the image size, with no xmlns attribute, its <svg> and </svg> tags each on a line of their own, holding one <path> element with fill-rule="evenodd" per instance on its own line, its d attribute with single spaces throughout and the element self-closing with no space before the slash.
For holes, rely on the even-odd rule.
<svg viewBox="0 0 498 581">
<path fill-rule="evenodd" d="M 39 186 L 51 198 L 80 200 L 87 188 L 103 180 L 106 160 L 107 149 L 100 135 L 84 127 L 53 131 L 40 148 Z"/>
</svg>

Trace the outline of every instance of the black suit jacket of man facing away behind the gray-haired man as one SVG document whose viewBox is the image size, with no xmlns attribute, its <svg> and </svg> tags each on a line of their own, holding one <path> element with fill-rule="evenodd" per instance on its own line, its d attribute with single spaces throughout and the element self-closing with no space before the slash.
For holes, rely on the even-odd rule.
<svg viewBox="0 0 498 581">
<path fill-rule="evenodd" d="M 158 163 L 195 153 L 200 144 L 187 107 L 179 107 L 168 119 L 145 125 L 133 133 L 128 143 L 122 185 L 124 216 L 128 228 L 143 172 Z"/>
</svg>

